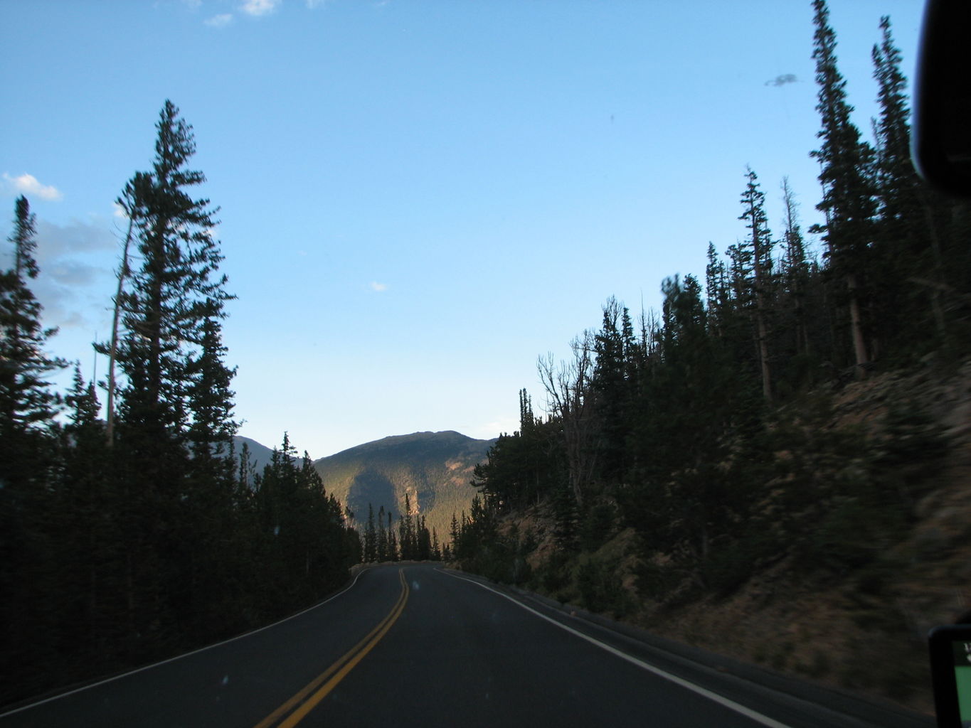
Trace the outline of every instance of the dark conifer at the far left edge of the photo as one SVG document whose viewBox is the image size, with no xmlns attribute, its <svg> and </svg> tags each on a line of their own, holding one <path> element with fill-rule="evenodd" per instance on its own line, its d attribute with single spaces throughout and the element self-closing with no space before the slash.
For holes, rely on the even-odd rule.
<svg viewBox="0 0 971 728">
<path fill-rule="evenodd" d="M 0 674 L 17 675 L 36 691 L 47 685 L 56 638 L 55 556 L 47 537 L 59 397 L 47 377 L 64 362 L 44 351 L 53 329 L 43 327 L 28 285 L 39 268 L 36 221 L 25 197 L 17 198 L 15 211 L 8 238 L 14 266 L 0 273 Z"/>
</svg>

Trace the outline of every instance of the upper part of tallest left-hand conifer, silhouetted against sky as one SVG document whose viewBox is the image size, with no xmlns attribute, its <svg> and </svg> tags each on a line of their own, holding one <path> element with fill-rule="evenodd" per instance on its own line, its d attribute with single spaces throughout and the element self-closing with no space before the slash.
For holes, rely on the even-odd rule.
<svg viewBox="0 0 971 728">
<path fill-rule="evenodd" d="M 121 295 L 125 336 L 118 364 L 127 378 L 129 422 L 164 441 L 178 436 L 191 417 L 187 360 L 203 347 L 207 322 L 224 316 L 231 296 L 224 290 L 225 276 L 218 275 L 222 255 L 213 236 L 218 211 L 209 200 L 189 195 L 206 179 L 186 168 L 195 153 L 192 127 L 166 101 L 156 129 L 152 171 L 130 183 L 128 207 L 137 211 L 130 219 L 142 265 Z"/>
</svg>

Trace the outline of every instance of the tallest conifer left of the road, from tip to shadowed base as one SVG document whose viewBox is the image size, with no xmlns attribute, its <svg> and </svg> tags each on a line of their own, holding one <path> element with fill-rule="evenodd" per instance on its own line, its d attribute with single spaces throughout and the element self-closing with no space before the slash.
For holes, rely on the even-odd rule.
<svg viewBox="0 0 971 728">
<path fill-rule="evenodd" d="M 190 194 L 205 176 L 187 166 L 192 127 L 172 102 L 155 128 L 151 171 L 137 174 L 120 198 L 141 264 L 129 270 L 122 260 L 112 347 L 124 378 L 113 442 L 130 545 L 128 631 L 153 636 L 162 632 L 149 625 L 193 611 L 206 603 L 200 587 L 216 588 L 209 546 L 236 498 L 225 457 L 235 431 L 232 370 L 222 361 L 219 325 L 231 296 L 218 273 L 217 211 Z M 284 488 L 292 479 L 278 480 Z"/>
</svg>

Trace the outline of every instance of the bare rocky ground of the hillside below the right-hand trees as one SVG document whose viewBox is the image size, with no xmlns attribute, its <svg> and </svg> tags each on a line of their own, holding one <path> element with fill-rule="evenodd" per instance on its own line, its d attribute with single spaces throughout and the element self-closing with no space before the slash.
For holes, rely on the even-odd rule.
<svg viewBox="0 0 971 728">
<path fill-rule="evenodd" d="M 884 474 L 887 501 L 909 499 L 893 540 L 868 543 L 866 521 L 882 514 L 848 510 L 842 528 L 830 519 L 811 535 L 839 552 L 839 567 L 783 549 L 718 593 L 670 573 L 663 581 L 667 556 L 646 554 L 622 524 L 602 545 L 564 556 L 545 504 L 501 525 L 529 565 L 526 585 L 691 645 L 932 711 L 926 632 L 971 610 L 971 362 L 927 360 L 820 397 L 828 414 L 816 431 L 859 436 L 840 467 L 882 463 L 871 472 Z M 810 454 L 828 472 L 829 453 Z"/>
</svg>

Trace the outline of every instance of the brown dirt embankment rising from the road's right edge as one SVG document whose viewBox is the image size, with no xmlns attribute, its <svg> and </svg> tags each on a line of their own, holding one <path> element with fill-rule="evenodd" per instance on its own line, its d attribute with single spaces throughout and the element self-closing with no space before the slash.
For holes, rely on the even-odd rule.
<svg viewBox="0 0 971 728">
<path fill-rule="evenodd" d="M 920 410 L 946 444 L 943 460 L 921 482 L 904 537 L 887 545 L 883 568 L 807 573 L 783 557 L 728 597 L 675 605 L 638 590 L 636 536 L 630 529 L 589 558 L 604 557 L 621 572 L 629 599 L 620 616 L 624 621 L 931 712 L 926 632 L 971 611 L 971 361 L 947 372 L 928 361 L 907 374 L 877 374 L 835 392 L 833 405 L 827 426 L 863 425 L 874 443 L 891 436 L 891 410 Z M 534 570 L 530 586 L 555 598 L 581 599 L 575 579 L 580 564 L 572 583 L 544 577 L 554 551 L 552 514 L 534 509 L 519 513 L 507 527 L 514 524 L 519 539 L 535 544 L 527 557 Z"/>
</svg>

